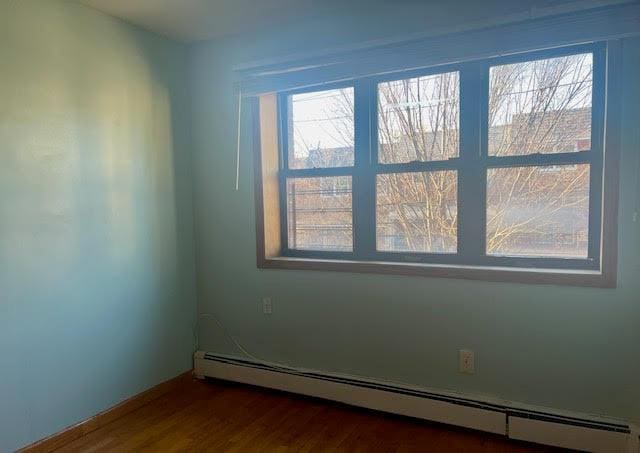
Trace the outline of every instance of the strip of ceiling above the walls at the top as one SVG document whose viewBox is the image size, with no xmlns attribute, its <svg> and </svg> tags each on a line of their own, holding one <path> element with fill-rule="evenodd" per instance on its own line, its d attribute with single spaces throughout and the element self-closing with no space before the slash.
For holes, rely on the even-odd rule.
<svg viewBox="0 0 640 453">
<path fill-rule="evenodd" d="M 76 0 L 155 33 L 183 41 L 197 41 L 248 31 L 265 30 L 305 18 L 356 16 L 375 9 L 390 13 L 411 11 L 432 22 L 457 16 L 508 14 L 572 9 L 619 3 L 625 0 Z M 629 0 L 626 0 L 629 1 Z M 425 13 L 426 11 L 426 13 Z M 464 13 L 462 13 L 464 11 Z M 443 16 L 444 15 L 444 16 Z M 422 20 L 418 18 L 418 20 Z M 433 24 L 432 24 L 433 25 Z M 425 23 L 425 26 L 427 24 Z"/>
</svg>

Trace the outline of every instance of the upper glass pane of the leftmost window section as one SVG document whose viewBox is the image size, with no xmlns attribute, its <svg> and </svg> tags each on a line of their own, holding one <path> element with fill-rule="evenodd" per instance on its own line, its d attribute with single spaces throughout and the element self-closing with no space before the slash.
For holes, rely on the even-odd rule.
<svg viewBox="0 0 640 453">
<path fill-rule="evenodd" d="M 353 88 L 294 94 L 289 101 L 289 168 L 353 165 Z"/>
</svg>

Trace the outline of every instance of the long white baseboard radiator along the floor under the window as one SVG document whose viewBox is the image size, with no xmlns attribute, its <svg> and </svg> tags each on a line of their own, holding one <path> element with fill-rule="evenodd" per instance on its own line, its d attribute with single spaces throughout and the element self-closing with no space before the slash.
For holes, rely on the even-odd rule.
<svg viewBox="0 0 640 453">
<path fill-rule="evenodd" d="M 277 364 L 198 351 L 197 377 L 212 377 L 353 406 L 421 418 L 575 450 L 640 453 L 638 432 L 628 423 L 562 415 L 465 398 L 346 375 L 298 370 Z"/>
</svg>

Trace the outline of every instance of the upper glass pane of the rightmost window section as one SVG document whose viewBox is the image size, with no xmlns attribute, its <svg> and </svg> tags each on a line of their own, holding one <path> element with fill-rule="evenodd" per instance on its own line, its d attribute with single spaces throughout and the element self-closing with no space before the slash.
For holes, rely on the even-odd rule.
<svg viewBox="0 0 640 453">
<path fill-rule="evenodd" d="M 593 55 L 494 66 L 489 88 L 489 154 L 591 148 Z"/>
</svg>

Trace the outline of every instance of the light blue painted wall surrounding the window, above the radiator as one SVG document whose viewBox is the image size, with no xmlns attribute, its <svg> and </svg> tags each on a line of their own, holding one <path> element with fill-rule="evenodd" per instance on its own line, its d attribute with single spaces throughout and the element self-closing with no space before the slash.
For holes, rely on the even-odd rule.
<svg viewBox="0 0 640 453">
<path fill-rule="evenodd" d="M 640 222 L 632 220 L 639 196 L 638 39 L 623 43 L 616 289 L 256 268 L 248 113 L 242 121 L 240 190 L 233 190 L 233 65 L 487 20 L 541 2 L 467 3 L 376 7 L 193 49 L 199 313 L 215 313 L 264 360 L 639 420 Z M 271 316 L 261 313 L 264 296 L 273 298 Z M 199 333 L 200 349 L 241 355 L 210 318 L 201 319 Z M 475 350 L 477 374 L 457 372 L 461 348 Z"/>
</svg>

